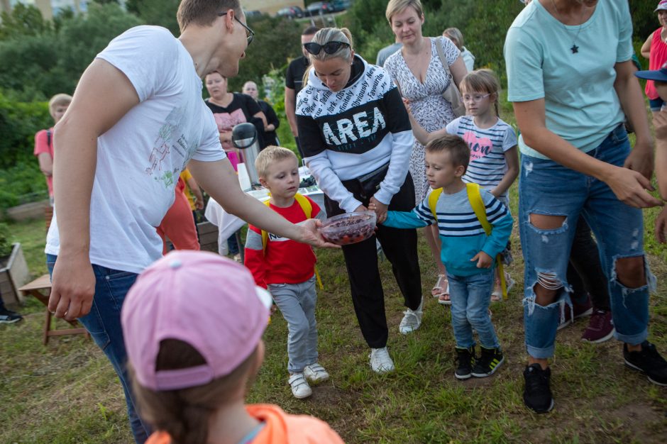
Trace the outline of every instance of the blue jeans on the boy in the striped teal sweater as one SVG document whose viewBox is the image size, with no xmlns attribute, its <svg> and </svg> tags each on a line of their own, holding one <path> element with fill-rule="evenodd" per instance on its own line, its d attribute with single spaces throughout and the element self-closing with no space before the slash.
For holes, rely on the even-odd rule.
<svg viewBox="0 0 667 444">
<path fill-rule="evenodd" d="M 477 331 L 480 344 L 484 348 L 500 347 L 489 317 L 493 276 L 492 269 L 472 276 L 447 274 L 451 299 L 451 326 L 456 347 L 470 348 L 475 345 L 473 328 Z"/>
</svg>

